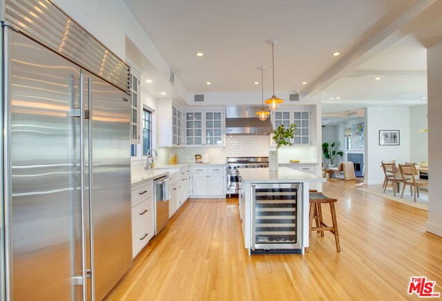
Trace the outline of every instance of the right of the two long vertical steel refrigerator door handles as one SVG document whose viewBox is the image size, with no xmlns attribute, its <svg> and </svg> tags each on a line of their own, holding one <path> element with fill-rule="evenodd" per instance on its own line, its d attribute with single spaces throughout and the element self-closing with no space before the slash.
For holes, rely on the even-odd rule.
<svg viewBox="0 0 442 301">
<path fill-rule="evenodd" d="M 89 252 L 90 252 L 90 300 L 95 301 L 94 220 L 93 220 L 93 139 L 92 139 L 92 79 L 88 78 L 88 173 L 89 173 Z"/>
</svg>

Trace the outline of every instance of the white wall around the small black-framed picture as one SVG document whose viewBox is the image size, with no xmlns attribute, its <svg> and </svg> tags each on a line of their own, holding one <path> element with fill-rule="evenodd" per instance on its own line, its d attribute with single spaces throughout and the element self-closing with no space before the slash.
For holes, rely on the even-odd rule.
<svg viewBox="0 0 442 301">
<path fill-rule="evenodd" d="M 365 117 L 365 182 L 382 184 L 381 161 L 410 162 L 410 107 L 368 107 Z M 400 130 L 400 145 L 380 146 L 379 130 Z"/>
</svg>

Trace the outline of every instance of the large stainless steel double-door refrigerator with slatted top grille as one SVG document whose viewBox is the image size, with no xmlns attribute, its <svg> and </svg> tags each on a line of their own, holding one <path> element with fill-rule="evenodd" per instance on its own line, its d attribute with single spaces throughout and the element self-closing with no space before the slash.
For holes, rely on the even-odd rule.
<svg viewBox="0 0 442 301">
<path fill-rule="evenodd" d="M 3 298 L 101 300 L 132 264 L 129 68 L 47 0 L 1 35 Z"/>
</svg>

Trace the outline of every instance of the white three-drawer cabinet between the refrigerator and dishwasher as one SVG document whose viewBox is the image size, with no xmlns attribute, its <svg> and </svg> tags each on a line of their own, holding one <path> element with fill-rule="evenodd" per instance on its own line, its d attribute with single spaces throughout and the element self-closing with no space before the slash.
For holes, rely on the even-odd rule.
<svg viewBox="0 0 442 301">
<path fill-rule="evenodd" d="M 132 255 L 142 251 L 154 235 L 153 182 L 132 187 Z"/>
</svg>

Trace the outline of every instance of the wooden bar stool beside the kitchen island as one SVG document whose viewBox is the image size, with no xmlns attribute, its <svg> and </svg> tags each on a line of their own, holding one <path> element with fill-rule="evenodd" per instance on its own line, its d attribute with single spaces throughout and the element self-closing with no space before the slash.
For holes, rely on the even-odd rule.
<svg viewBox="0 0 442 301">
<path fill-rule="evenodd" d="M 309 193 L 309 202 L 309 235 L 311 235 L 311 231 L 318 231 L 318 233 L 320 233 L 320 235 L 323 237 L 324 231 L 332 232 L 334 234 L 334 240 L 336 242 L 336 251 L 340 252 L 338 222 L 336 221 L 336 211 L 334 208 L 334 203 L 337 202 L 337 200 L 332 199 L 331 197 L 326 197 L 325 195 L 323 195 L 323 193 L 311 192 Z M 324 224 L 321 204 L 330 204 L 330 213 L 332 213 L 333 226 L 327 226 L 326 224 Z M 313 220 L 315 220 L 316 227 L 313 226 Z"/>
</svg>

